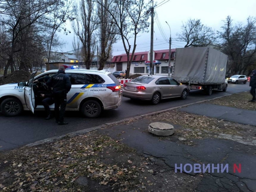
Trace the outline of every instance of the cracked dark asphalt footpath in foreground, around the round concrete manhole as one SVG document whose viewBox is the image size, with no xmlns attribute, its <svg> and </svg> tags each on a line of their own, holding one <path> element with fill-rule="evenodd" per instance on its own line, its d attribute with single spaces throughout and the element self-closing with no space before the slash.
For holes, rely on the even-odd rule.
<svg viewBox="0 0 256 192">
<path fill-rule="evenodd" d="M 256 147 L 254 145 L 212 137 L 191 139 L 193 145 L 186 145 L 179 141 L 175 134 L 160 137 L 149 133 L 148 126 L 152 122 L 149 118 L 142 118 L 97 131 L 107 134 L 113 139 L 121 139 L 122 142 L 137 149 L 141 154 L 163 160 L 173 170 L 175 164 L 178 167 L 180 164 L 184 166 L 186 163 L 199 163 L 201 166 L 203 163 L 213 163 L 215 166 L 221 163 L 229 164 L 228 173 L 226 171 L 221 173 L 221 167 L 219 173 L 216 171 L 214 173 L 188 173 L 202 177 L 196 188 L 191 191 L 256 191 Z M 174 129 L 182 129 L 179 125 L 172 125 Z M 233 173 L 234 163 L 237 166 L 239 163 L 241 164 L 241 173 L 238 171 Z"/>
</svg>

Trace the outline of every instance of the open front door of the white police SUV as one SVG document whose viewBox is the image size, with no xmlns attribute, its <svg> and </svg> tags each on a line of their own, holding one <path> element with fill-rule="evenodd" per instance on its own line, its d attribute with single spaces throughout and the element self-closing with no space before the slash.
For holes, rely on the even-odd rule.
<svg viewBox="0 0 256 192">
<path fill-rule="evenodd" d="M 34 109 L 35 109 L 35 94 L 33 91 L 33 82 L 34 82 L 35 74 L 36 74 L 36 71 L 30 75 L 28 83 L 25 87 L 25 93 L 24 93 L 27 107 L 32 111 L 32 113 L 34 113 Z"/>
</svg>

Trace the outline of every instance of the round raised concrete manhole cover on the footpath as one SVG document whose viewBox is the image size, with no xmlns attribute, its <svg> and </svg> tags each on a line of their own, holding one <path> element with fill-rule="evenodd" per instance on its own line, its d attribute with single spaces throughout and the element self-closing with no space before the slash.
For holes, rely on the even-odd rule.
<svg viewBox="0 0 256 192">
<path fill-rule="evenodd" d="M 170 136 L 174 134 L 174 127 L 168 123 L 154 122 L 149 124 L 149 132 L 158 136 Z"/>
</svg>

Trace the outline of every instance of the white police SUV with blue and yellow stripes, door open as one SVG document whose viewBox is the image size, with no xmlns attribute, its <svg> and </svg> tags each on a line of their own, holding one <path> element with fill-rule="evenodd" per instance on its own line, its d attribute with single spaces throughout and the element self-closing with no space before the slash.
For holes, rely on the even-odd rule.
<svg viewBox="0 0 256 192">
<path fill-rule="evenodd" d="M 51 76 L 58 70 L 46 71 L 35 77 L 33 72 L 28 82 L 10 83 L 0 86 L 0 109 L 6 116 L 16 116 L 23 110 L 44 110 L 42 103 L 35 105 L 36 79 Z M 82 111 L 85 117 L 96 118 L 102 110 L 115 109 L 121 105 L 121 85 L 110 73 L 84 69 L 66 69 L 71 80 L 67 94 L 66 110 Z M 50 106 L 54 110 L 54 104 Z"/>
</svg>

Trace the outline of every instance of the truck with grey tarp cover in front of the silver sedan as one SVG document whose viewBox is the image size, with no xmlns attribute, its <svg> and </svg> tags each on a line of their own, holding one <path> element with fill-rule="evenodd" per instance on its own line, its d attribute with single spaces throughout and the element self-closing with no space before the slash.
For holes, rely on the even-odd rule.
<svg viewBox="0 0 256 192">
<path fill-rule="evenodd" d="M 227 90 L 228 56 L 211 47 L 177 48 L 171 77 L 188 85 L 189 90 Z"/>
</svg>

